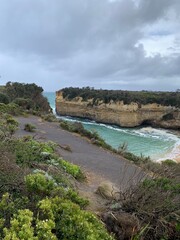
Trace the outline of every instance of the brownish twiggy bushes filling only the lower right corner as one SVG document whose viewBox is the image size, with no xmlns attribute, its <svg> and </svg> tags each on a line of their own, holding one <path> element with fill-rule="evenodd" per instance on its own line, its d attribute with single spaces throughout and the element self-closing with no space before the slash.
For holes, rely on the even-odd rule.
<svg viewBox="0 0 180 240">
<path fill-rule="evenodd" d="M 180 164 L 171 166 L 162 164 L 151 178 L 119 193 L 119 199 L 113 205 L 120 207 L 111 210 L 111 214 L 104 215 L 108 229 L 115 233 L 117 239 L 126 239 L 126 234 L 129 234 L 129 239 L 131 237 L 134 240 L 179 239 L 179 172 Z M 134 228 L 128 232 L 127 227 L 123 233 L 124 222 L 121 216 L 124 213 L 128 214 Z M 111 216 L 115 216 L 116 220 Z M 120 233 L 121 238 L 118 237 Z"/>
</svg>

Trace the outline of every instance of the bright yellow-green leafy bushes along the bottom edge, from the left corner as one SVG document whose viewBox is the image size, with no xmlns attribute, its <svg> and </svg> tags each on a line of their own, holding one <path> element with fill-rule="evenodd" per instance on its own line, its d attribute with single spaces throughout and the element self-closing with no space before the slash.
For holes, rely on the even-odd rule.
<svg viewBox="0 0 180 240">
<path fill-rule="evenodd" d="M 3 198 L 7 200 L 7 196 Z M 92 213 L 81 210 L 69 200 L 45 198 L 36 208 L 34 213 L 30 209 L 19 209 L 14 213 L 9 227 L 3 228 L 1 239 L 113 240 Z M 0 220 L 2 229 L 5 219 Z"/>
</svg>

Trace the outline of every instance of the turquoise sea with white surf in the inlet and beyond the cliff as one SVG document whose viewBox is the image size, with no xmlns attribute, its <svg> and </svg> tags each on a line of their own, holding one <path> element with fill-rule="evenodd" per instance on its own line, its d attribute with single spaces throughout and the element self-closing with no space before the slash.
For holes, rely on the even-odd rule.
<svg viewBox="0 0 180 240">
<path fill-rule="evenodd" d="M 55 93 L 44 93 L 55 113 Z M 173 131 L 152 127 L 121 128 L 113 125 L 100 124 L 87 119 L 61 117 L 67 121 L 79 121 L 87 130 L 96 131 L 111 146 L 118 148 L 124 142 L 128 151 L 154 160 L 173 159 L 177 157 L 180 146 L 180 136 Z"/>
</svg>

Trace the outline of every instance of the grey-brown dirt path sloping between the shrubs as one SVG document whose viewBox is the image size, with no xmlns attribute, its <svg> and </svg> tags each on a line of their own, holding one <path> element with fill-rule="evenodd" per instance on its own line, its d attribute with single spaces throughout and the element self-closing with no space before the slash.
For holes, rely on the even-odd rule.
<svg viewBox="0 0 180 240">
<path fill-rule="evenodd" d="M 72 152 L 59 148 L 60 155 L 71 163 L 81 166 L 89 176 L 89 189 L 94 191 L 102 181 L 110 181 L 118 188 L 125 188 L 142 178 L 142 171 L 120 156 L 99 148 L 88 140 L 60 129 L 58 123 L 49 123 L 31 116 L 18 117 L 19 130 L 17 136 L 36 135 L 43 141 L 54 141 L 60 145 L 70 146 Z M 24 124 L 36 126 L 35 133 L 27 133 Z"/>
</svg>

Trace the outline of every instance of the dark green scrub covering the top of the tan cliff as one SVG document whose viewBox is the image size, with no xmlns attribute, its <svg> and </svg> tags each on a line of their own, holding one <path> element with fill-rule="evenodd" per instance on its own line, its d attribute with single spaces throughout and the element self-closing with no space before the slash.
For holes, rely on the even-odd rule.
<svg viewBox="0 0 180 240">
<path fill-rule="evenodd" d="M 137 102 L 139 104 L 157 103 L 180 107 L 180 92 L 153 92 L 153 91 L 123 91 L 123 90 L 95 90 L 85 88 L 63 88 L 63 97 L 72 100 L 81 97 L 83 101 L 93 99 L 93 105 L 99 101 L 110 103 L 111 101 L 123 101 L 124 104 Z"/>
</svg>

